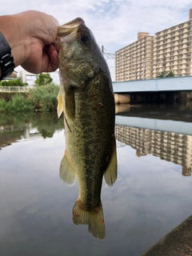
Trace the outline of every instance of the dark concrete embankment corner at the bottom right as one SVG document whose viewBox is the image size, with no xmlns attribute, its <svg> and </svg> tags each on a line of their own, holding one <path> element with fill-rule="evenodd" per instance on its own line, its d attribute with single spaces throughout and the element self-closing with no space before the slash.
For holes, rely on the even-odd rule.
<svg viewBox="0 0 192 256">
<path fill-rule="evenodd" d="M 166 234 L 142 256 L 192 255 L 192 215 Z"/>
</svg>

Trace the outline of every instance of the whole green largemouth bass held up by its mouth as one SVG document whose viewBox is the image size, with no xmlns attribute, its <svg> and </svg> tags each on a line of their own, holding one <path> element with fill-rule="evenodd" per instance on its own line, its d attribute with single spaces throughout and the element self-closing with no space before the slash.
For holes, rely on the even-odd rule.
<svg viewBox="0 0 192 256">
<path fill-rule="evenodd" d="M 114 92 L 110 71 L 94 35 L 82 18 L 58 26 L 60 90 L 58 117 L 63 112 L 66 150 L 59 175 L 79 195 L 73 222 L 88 225 L 94 238 L 105 238 L 101 190 L 117 179 L 114 136 Z"/>
</svg>

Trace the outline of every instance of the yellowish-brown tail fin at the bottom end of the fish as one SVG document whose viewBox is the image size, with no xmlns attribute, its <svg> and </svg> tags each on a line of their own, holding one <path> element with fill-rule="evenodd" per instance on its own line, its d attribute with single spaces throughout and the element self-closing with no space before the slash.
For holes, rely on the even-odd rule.
<svg viewBox="0 0 192 256">
<path fill-rule="evenodd" d="M 89 232 L 94 238 L 105 238 L 105 224 L 102 213 L 102 203 L 96 210 L 86 211 L 82 208 L 82 202 L 78 199 L 73 208 L 74 224 L 88 224 Z"/>
</svg>

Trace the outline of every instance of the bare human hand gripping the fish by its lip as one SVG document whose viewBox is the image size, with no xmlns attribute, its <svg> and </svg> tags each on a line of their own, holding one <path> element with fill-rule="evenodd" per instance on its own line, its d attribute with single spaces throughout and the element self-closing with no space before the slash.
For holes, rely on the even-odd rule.
<svg viewBox="0 0 192 256">
<path fill-rule="evenodd" d="M 58 51 L 53 43 L 58 21 L 42 12 L 29 10 L 0 17 L 0 30 L 12 48 L 15 66 L 39 74 L 58 69 Z"/>
</svg>

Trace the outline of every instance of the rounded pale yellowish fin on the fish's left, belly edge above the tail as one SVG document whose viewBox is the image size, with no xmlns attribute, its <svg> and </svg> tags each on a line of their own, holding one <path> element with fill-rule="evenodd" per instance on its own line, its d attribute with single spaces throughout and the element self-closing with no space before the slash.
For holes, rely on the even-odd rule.
<svg viewBox="0 0 192 256">
<path fill-rule="evenodd" d="M 67 156 L 67 152 L 64 154 L 62 158 L 62 162 L 60 164 L 59 175 L 63 182 L 67 185 L 74 185 L 76 174 L 74 167 L 71 165 L 69 158 Z"/>
</svg>

